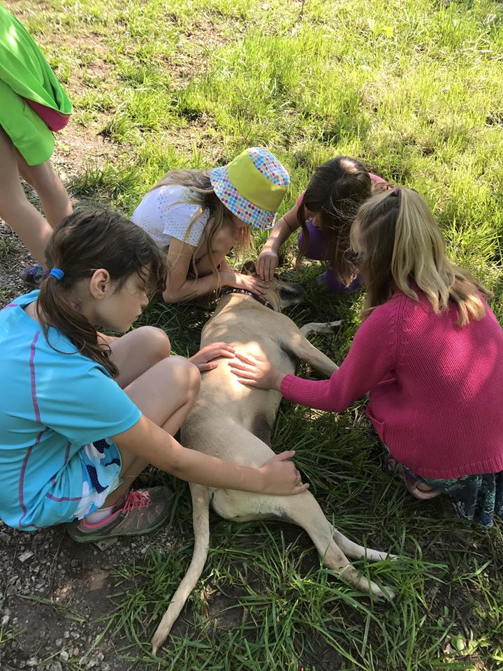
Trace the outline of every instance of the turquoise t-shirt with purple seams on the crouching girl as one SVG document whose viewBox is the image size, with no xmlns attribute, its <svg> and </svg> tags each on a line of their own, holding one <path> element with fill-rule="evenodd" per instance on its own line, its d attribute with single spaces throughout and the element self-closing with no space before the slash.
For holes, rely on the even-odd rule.
<svg viewBox="0 0 503 671">
<path fill-rule="evenodd" d="M 0 311 L 0 519 L 33 531 L 71 521 L 82 496 L 83 445 L 134 426 L 141 412 L 103 366 L 23 310 Z"/>
</svg>

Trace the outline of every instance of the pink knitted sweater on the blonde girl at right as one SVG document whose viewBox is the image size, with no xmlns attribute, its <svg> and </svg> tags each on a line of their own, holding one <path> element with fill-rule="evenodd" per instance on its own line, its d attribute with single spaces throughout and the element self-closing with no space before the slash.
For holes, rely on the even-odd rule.
<svg viewBox="0 0 503 671">
<path fill-rule="evenodd" d="M 360 326 L 330 380 L 286 375 L 288 401 L 343 412 L 367 392 L 367 416 L 398 461 L 454 479 L 503 470 L 503 330 L 486 316 L 460 328 L 401 292 Z"/>
</svg>

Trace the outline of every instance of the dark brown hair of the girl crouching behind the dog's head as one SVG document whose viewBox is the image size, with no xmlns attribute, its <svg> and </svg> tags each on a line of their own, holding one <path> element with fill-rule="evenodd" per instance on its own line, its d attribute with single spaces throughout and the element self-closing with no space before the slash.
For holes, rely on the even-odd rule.
<svg viewBox="0 0 503 671">
<path fill-rule="evenodd" d="M 319 214 L 325 233 L 327 260 L 338 280 L 349 285 L 356 268 L 349 256 L 349 231 L 360 205 L 372 195 L 372 180 L 367 168 L 349 156 L 337 156 L 316 169 L 298 208 L 297 220 L 302 228 L 299 263 L 309 247 L 307 212 Z"/>
</svg>

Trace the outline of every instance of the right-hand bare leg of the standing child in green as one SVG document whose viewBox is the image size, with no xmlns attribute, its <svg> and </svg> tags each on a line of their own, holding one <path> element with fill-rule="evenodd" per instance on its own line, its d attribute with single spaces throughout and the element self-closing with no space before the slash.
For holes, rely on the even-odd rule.
<svg viewBox="0 0 503 671">
<path fill-rule="evenodd" d="M 61 219 L 73 212 L 63 182 L 54 172 L 50 161 L 44 161 L 38 166 L 29 166 L 20 152 L 16 150 L 16 154 L 17 166 L 22 178 L 34 187 L 42 203 L 45 217 L 54 229 Z"/>
</svg>

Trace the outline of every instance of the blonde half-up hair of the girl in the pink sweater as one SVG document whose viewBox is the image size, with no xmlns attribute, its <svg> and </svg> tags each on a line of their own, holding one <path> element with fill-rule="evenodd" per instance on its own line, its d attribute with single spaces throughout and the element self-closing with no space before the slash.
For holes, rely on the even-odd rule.
<svg viewBox="0 0 503 671">
<path fill-rule="evenodd" d="M 442 231 L 414 189 L 372 196 L 358 210 L 350 238 L 367 288 L 363 317 L 386 303 L 395 289 L 418 301 L 411 283 L 423 291 L 435 314 L 453 301 L 459 326 L 486 314 L 479 294 L 490 296 L 490 291 L 446 257 Z"/>
</svg>

